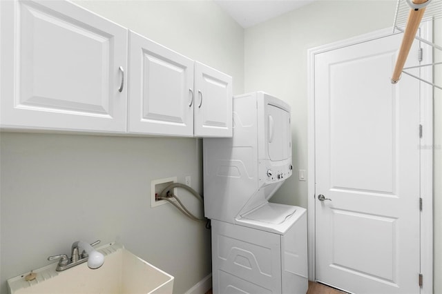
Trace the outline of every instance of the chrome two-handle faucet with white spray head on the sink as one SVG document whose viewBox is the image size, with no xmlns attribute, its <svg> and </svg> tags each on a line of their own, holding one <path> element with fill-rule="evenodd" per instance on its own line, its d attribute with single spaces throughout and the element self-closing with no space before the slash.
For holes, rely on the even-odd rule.
<svg viewBox="0 0 442 294">
<path fill-rule="evenodd" d="M 48 260 L 60 259 L 55 269 L 56 271 L 64 271 L 86 261 L 88 262 L 89 268 L 99 268 L 104 263 L 104 255 L 93 248 L 93 246 L 99 244 L 99 242 L 99 240 L 93 242 L 93 244 L 88 244 L 83 241 L 74 242 L 72 244 L 70 258 L 66 254 L 61 254 L 50 256 Z M 83 249 L 81 254 L 79 253 L 80 248 Z"/>
</svg>

